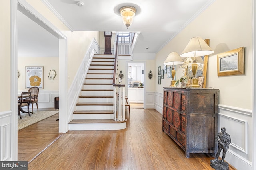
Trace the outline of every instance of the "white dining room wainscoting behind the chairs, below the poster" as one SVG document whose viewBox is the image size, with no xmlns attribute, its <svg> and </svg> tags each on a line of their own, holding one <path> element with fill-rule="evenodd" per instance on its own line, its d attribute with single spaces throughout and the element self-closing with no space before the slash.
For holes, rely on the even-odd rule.
<svg viewBox="0 0 256 170">
<path fill-rule="evenodd" d="M 21 92 L 18 91 L 18 96 Z M 38 108 L 54 108 L 54 98 L 59 96 L 59 91 L 42 91 L 39 90 L 38 94 Z M 30 108 L 32 105 L 30 105 Z M 36 110 L 36 104 L 33 106 L 33 110 Z"/>
</svg>

